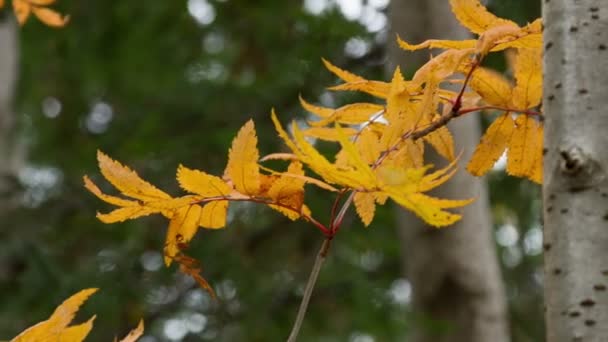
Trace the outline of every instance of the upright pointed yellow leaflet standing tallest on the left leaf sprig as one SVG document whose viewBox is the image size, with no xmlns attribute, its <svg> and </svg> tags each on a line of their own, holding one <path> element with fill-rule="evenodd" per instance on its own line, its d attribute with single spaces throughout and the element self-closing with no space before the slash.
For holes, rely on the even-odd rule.
<svg viewBox="0 0 608 342">
<path fill-rule="evenodd" d="M 232 180 L 234 188 L 245 195 L 256 195 L 260 191 L 257 144 L 255 127 L 253 121 L 249 120 L 239 130 L 228 152 L 225 174 Z"/>
</svg>

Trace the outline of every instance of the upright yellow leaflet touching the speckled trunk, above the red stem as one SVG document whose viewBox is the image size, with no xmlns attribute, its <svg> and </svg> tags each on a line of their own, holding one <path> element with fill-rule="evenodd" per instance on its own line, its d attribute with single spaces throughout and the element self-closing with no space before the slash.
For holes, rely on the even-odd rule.
<svg viewBox="0 0 608 342">
<path fill-rule="evenodd" d="M 517 109 L 537 106 L 543 90 L 541 50 L 519 49 L 514 69 L 516 84 L 513 89 L 513 106 Z"/>
</svg>

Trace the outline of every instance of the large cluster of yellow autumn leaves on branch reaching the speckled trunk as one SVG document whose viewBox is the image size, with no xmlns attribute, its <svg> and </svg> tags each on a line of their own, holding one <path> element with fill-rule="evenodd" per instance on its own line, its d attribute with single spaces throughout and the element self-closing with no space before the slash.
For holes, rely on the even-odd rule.
<svg viewBox="0 0 608 342">
<path fill-rule="evenodd" d="M 390 81 L 367 80 L 328 61 L 327 69 L 343 83 L 334 91 L 358 91 L 379 102 L 353 103 L 339 108 L 316 106 L 301 99 L 314 117 L 307 127 L 292 122 L 288 131 L 274 111 L 272 121 L 287 151 L 260 158 L 253 121 L 238 132 L 228 151 L 221 176 L 180 165 L 176 179 L 187 192 L 171 196 L 141 179 L 136 172 L 98 152 L 102 175 L 124 197 L 103 193 L 85 176 L 85 187 L 117 209 L 98 214 L 105 223 L 161 214 L 169 220 L 165 263 L 176 261 L 182 271 L 194 275 L 202 287 L 211 287 L 200 277 L 200 267 L 185 256 L 189 241 L 199 227 L 226 226 L 231 202 L 248 201 L 267 205 L 288 218 L 312 223 L 331 239 L 344 215 L 354 204 L 365 225 L 373 220 L 376 205 L 388 199 L 412 211 L 436 227 L 448 226 L 460 215 L 449 211 L 472 199 L 442 199 L 426 194 L 448 181 L 456 172 L 453 137 L 446 124 L 475 111 L 499 111 L 467 169 L 485 174 L 507 152 L 507 172 L 535 182 L 542 181 L 543 116 L 540 104 L 542 23 L 523 27 L 488 12 L 478 0 L 451 0 L 458 20 L 477 39 L 428 40 L 410 44 L 398 38 L 405 50 L 438 48 L 410 80 L 396 68 Z M 513 80 L 482 66 L 484 57 L 509 49 L 513 58 Z M 454 91 L 453 85 L 460 85 Z M 311 139 L 336 143 L 338 152 L 328 158 Z M 449 163 L 441 169 L 425 164 L 425 149 L 431 146 Z M 283 170 L 263 165 L 279 159 Z M 323 224 L 305 204 L 305 186 L 319 187 L 335 195 L 331 218 Z"/>
</svg>

